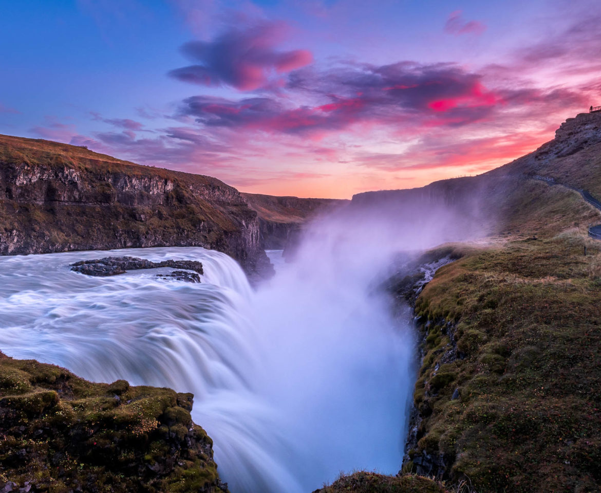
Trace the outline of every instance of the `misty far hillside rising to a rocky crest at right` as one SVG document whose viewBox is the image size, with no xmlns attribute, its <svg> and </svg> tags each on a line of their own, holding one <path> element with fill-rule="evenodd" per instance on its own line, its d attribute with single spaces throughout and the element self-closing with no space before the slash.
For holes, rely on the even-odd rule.
<svg viewBox="0 0 601 493">
<path fill-rule="evenodd" d="M 553 140 L 487 173 L 421 188 L 356 194 L 352 206 L 388 210 L 403 210 L 407 204 L 443 206 L 466 222 L 480 224 L 491 236 L 544 236 L 557 234 L 558 228 L 598 222 L 599 214 L 576 197 L 576 192 L 551 190 L 541 177 L 601 197 L 601 113 L 568 118 Z M 561 205 L 564 213 L 557 210 Z M 560 224 L 549 221 L 549 215 Z"/>
</svg>

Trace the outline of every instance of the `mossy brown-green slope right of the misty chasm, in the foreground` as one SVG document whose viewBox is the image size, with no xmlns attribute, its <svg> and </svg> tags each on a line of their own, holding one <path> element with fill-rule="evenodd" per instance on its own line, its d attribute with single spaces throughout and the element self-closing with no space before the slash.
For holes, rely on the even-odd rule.
<svg viewBox="0 0 601 493">
<path fill-rule="evenodd" d="M 601 243 L 572 230 L 472 251 L 436 274 L 416 302 L 430 320 L 416 453 L 443 453 L 449 479 L 480 493 L 596 490 L 600 260 Z M 465 358 L 448 364 L 435 326 L 445 313 Z"/>
</svg>

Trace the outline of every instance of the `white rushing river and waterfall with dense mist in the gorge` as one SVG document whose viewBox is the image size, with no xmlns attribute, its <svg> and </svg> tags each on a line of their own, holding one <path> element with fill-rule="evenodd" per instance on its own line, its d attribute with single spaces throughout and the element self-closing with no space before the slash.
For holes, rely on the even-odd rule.
<svg viewBox="0 0 601 493">
<path fill-rule="evenodd" d="M 386 255 L 325 230 L 292 264 L 269 252 L 278 273 L 256 291 L 203 248 L 0 257 L 0 349 L 94 381 L 191 391 L 233 493 L 308 493 L 353 468 L 394 474 L 413 384 L 409 316 L 392 320 L 373 288 Z M 172 269 L 69 268 L 125 255 L 200 260 L 205 274 L 192 284 L 156 277 Z"/>
</svg>

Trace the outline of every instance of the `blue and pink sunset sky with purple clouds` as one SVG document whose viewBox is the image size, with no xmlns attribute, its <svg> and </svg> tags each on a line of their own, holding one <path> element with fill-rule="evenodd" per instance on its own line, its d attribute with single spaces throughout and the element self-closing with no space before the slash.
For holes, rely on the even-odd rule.
<svg viewBox="0 0 601 493">
<path fill-rule="evenodd" d="M 350 198 L 601 105 L 599 0 L 0 0 L 0 133 Z"/>
</svg>

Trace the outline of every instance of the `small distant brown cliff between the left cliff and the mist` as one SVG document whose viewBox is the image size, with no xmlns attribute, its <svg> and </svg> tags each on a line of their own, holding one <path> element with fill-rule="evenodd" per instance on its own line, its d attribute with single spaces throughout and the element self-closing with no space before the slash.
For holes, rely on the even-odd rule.
<svg viewBox="0 0 601 493">
<path fill-rule="evenodd" d="M 317 213 L 345 204 L 332 198 L 274 197 L 242 194 L 259 217 L 260 235 L 268 250 L 283 250 L 297 231 Z"/>
</svg>

